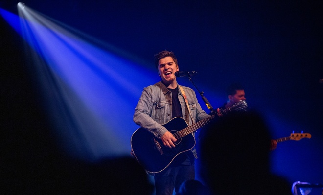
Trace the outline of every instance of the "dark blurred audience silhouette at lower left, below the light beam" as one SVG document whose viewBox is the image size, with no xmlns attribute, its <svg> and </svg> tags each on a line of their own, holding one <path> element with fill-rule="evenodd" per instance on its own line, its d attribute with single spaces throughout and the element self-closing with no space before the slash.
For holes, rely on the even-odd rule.
<svg viewBox="0 0 323 195">
<path fill-rule="evenodd" d="M 103 159 L 98 163 L 72 162 L 61 178 L 62 194 L 152 195 L 154 186 L 138 162 L 130 157 Z"/>
</svg>

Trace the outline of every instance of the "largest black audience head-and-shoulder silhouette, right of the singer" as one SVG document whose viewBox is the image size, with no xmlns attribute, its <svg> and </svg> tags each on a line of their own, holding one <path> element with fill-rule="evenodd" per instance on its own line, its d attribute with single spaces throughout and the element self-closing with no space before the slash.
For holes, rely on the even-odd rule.
<svg viewBox="0 0 323 195">
<path fill-rule="evenodd" d="M 201 138 L 201 177 L 214 195 L 291 195 L 288 182 L 270 171 L 269 131 L 254 111 L 232 112 Z"/>
</svg>

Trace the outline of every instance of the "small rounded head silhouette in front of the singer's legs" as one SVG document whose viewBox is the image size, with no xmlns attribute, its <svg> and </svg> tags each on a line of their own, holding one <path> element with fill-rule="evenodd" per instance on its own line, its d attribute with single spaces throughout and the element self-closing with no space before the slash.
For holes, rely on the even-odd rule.
<svg viewBox="0 0 323 195">
<path fill-rule="evenodd" d="M 211 195 L 209 189 L 198 180 L 184 181 L 176 195 Z"/>
</svg>

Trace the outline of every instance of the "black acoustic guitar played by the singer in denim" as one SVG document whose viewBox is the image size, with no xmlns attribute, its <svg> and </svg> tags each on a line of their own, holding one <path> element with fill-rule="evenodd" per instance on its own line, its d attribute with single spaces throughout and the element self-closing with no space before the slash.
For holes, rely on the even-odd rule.
<svg viewBox="0 0 323 195">
<path fill-rule="evenodd" d="M 171 119 L 162 126 L 177 139 L 174 143 L 175 148 L 165 147 L 160 139 L 141 127 L 131 136 L 131 152 L 149 174 L 155 175 L 165 170 L 176 156 L 194 148 L 196 141 L 193 133 L 197 129 L 209 124 L 216 115 L 225 115 L 231 111 L 244 110 L 247 107 L 246 101 L 239 101 L 233 106 L 191 126 L 188 126 L 182 117 Z"/>
</svg>

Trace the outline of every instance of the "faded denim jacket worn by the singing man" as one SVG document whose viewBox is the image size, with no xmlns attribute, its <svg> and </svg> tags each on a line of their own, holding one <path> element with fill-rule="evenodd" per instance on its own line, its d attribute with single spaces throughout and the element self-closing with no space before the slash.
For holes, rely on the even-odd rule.
<svg viewBox="0 0 323 195">
<path fill-rule="evenodd" d="M 177 84 L 179 87 L 179 85 Z M 192 125 L 202 119 L 210 117 L 204 110 L 202 110 L 200 104 L 197 102 L 195 92 L 189 88 L 182 86 L 187 100 L 190 112 L 193 116 L 193 120 L 190 114 L 187 112 L 186 103 L 183 98 L 181 90 L 178 93 L 178 99 L 182 107 L 183 118 L 188 125 Z M 138 104 L 135 108 L 134 122 L 147 129 L 155 135 L 155 137 L 161 139 L 161 137 L 168 131 L 162 124 L 165 124 L 172 119 L 172 93 L 167 87 L 160 81 L 154 85 L 145 87 L 139 98 Z"/>
</svg>

